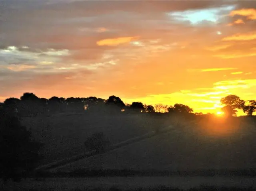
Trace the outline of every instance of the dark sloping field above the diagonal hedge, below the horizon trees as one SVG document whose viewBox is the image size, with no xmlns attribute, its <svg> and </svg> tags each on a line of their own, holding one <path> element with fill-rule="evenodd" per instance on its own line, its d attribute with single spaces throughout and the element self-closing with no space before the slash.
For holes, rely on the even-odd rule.
<svg viewBox="0 0 256 191">
<path fill-rule="evenodd" d="M 84 140 L 103 132 L 111 144 L 146 134 L 156 127 L 167 126 L 170 119 L 144 114 L 59 114 L 22 118 L 36 140 L 45 144 L 41 164 L 70 158 L 84 152 Z"/>
</svg>

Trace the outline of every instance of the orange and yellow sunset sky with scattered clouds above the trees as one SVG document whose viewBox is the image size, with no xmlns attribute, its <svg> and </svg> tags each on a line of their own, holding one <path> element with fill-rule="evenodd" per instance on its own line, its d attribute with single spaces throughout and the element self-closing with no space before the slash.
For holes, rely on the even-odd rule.
<svg viewBox="0 0 256 191">
<path fill-rule="evenodd" d="M 0 1 L 0 101 L 108 98 L 217 112 L 256 98 L 256 1 Z"/>
</svg>

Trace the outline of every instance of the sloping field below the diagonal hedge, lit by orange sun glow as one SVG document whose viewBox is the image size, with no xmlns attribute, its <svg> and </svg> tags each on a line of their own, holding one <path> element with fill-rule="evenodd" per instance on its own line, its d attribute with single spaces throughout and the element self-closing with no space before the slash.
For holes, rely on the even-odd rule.
<svg viewBox="0 0 256 191">
<path fill-rule="evenodd" d="M 208 125 L 207 125 L 208 124 Z M 212 134 L 210 129 L 220 129 Z M 225 131 L 221 129 L 226 129 Z M 223 133 L 224 132 L 224 133 Z M 256 128 L 241 120 L 204 121 L 54 170 L 256 168 Z"/>
</svg>

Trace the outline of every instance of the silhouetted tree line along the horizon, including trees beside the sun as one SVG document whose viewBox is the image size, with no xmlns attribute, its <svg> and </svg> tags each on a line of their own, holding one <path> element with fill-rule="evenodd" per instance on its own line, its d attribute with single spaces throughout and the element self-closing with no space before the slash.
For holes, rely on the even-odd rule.
<svg viewBox="0 0 256 191">
<path fill-rule="evenodd" d="M 241 109 L 247 115 L 252 115 L 256 112 L 256 101 L 244 101 L 236 95 L 228 95 L 221 98 L 220 102 L 224 105 L 221 110 L 228 115 L 236 115 L 238 109 Z M 80 97 L 57 97 L 53 96 L 49 99 L 39 98 L 34 93 L 24 93 L 19 98 L 7 98 L 3 103 L 0 102 L 0 107 L 19 116 L 36 116 L 38 114 L 54 114 L 61 112 L 168 112 L 187 114 L 192 113 L 193 109 L 184 104 L 174 104 L 168 106 L 164 104 L 156 104 L 155 106 L 146 105 L 142 102 L 132 102 L 125 104 L 118 96 L 109 96 L 108 99 L 97 98 L 90 96 L 87 98 Z M 202 113 L 195 113 L 201 115 Z"/>
</svg>

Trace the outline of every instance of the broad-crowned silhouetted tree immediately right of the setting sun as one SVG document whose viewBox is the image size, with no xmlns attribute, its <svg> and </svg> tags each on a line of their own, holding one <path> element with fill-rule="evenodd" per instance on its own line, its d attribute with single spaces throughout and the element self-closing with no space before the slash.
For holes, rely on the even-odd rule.
<svg viewBox="0 0 256 191">
<path fill-rule="evenodd" d="M 236 95 L 228 95 L 224 98 L 220 99 L 221 104 L 229 106 L 224 108 L 228 114 L 230 113 L 234 113 L 236 114 L 237 110 L 236 109 L 243 109 L 244 108 L 244 103 L 245 101 L 240 99 L 240 97 L 236 96 Z M 233 111 L 231 112 L 230 109 L 232 109 Z M 224 111 L 223 111 L 224 112 Z"/>
</svg>

